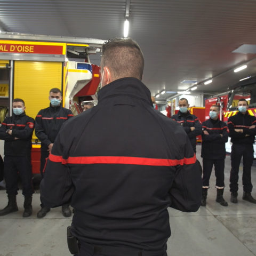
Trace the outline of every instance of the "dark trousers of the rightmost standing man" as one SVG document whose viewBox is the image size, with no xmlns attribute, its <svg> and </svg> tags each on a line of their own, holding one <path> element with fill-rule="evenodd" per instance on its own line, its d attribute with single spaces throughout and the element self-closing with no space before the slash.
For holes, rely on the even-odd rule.
<svg viewBox="0 0 256 256">
<path fill-rule="evenodd" d="M 231 147 L 231 171 L 230 171 L 230 191 L 238 191 L 238 172 L 241 158 L 243 156 L 243 186 L 244 191 L 251 193 L 251 167 L 253 163 L 253 145 L 252 144 L 234 144 Z"/>
</svg>

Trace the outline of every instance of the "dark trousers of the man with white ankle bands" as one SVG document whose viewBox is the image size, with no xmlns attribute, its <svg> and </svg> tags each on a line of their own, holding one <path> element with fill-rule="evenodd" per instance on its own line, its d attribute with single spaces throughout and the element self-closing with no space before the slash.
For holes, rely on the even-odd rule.
<svg viewBox="0 0 256 256">
<path fill-rule="evenodd" d="M 212 167 L 214 165 L 216 187 L 224 188 L 224 167 L 225 159 L 207 159 L 203 158 L 203 187 L 209 187 L 209 180 L 212 173 Z"/>
</svg>

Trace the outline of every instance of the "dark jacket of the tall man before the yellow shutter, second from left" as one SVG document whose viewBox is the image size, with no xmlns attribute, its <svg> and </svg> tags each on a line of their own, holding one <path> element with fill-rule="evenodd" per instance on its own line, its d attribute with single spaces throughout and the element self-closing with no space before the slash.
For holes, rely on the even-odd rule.
<svg viewBox="0 0 256 256">
<path fill-rule="evenodd" d="M 41 109 L 36 116 L 35 133 L 41 140 L 41 150 L 48 149 L 48 146 L 54 142 L 62 124 L 68 118 L 73 117 L 71 110 L 58 107 L 50 107 Z"/>
</svg>

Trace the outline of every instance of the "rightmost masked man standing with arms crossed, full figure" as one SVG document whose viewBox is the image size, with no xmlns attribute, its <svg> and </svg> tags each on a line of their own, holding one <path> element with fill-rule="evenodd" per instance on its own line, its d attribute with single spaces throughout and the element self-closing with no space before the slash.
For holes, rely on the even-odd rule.
<svg viewBox="0 0 256 256">
<path fill-rule="evenodd" d="M 245 99 L 238 101 L 238 113 L 228 119 L 229 137 L 231 137 L 231 171 L 230 192 L 232 203 L 237 203 L 238 172 L 243 156 L 243 199 L 256 204 L 256 199 L 251 195 L 251 167 L 253 163 L 253 143 L 256 135 L 256 117 L 249 115 L 248 102 Z"/>
</svg>

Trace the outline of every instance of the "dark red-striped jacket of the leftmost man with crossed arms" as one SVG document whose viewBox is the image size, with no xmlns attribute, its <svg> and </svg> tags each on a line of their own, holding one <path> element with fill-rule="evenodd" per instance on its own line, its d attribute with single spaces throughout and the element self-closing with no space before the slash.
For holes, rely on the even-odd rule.
<svg viewBox="0 0 256 256">
<path fill-rule="evenodd" d="M 6 117 L 0 127 L 0 139 L 4 140 L 5 156 L 29 156 L 35 120 L 24 113 Z M 12 130 L 12 135 L 6 131 Z M 15 139 L 18 138 L 18 139 Z"/>
</svg>

